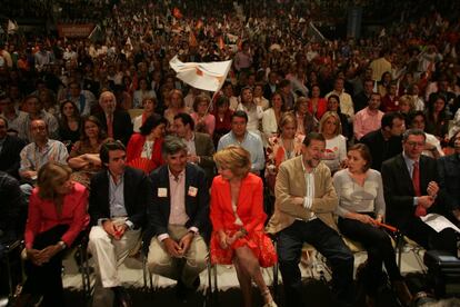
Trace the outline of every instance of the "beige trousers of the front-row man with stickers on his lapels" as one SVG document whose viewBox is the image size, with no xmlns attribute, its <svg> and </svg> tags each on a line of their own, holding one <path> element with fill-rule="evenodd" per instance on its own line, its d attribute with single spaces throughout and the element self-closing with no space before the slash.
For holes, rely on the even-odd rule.
<svg viewBox="0 0 460 307">
<path fill-rule="evenodd" d="M 188 229 L 183 226 L 169 226 L 168 234 L 171 239 L 179 241 Z M 208 247 L 200 235 L 193 237 L 189 250 L 182 258 L 174 258 L 168 254 L 164 244 L 157 237 L 152 238 L 147 257 L 147 265 L 150 273 L 158 274 L 174 280 L 179 278 L 188 287 L 191 287 L 194 279 L 207 267 Z"/>
</svg>

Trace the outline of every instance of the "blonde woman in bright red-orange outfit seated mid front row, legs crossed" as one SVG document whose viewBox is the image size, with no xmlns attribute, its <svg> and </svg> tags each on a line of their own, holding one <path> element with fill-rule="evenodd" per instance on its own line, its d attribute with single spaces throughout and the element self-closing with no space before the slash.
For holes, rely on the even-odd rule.
<svg viewBox="0 0 460 307">
<path fill-rule="evenodd" d="M 262 179 L 250 174 L 250 154 L 229 146 L 214 155 L 220 176 L 212 181 L 210 217 L 211 261 L 233 264 L 243 295 L 244 306 L 251 307 L 251 279 L 259 287 L 267 307 L 277 306 L 260 267 L 270 267 L 277 255 L 263 231 Z"/>
</svg>

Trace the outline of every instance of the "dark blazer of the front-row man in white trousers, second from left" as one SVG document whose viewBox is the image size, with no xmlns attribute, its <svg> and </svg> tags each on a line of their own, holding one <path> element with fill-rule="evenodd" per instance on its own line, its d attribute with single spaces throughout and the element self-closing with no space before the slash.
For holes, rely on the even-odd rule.
<svg viewBox="0 0 460 307">
<path fill-rule="evenodd" d="M 134 225 L 134 229 L 141 228 L 144 226 L 147 207 L 152 202 L 150 179 L 142 170 L 126 167 L 123 182 L 128 220 Z M 110 218 L 109 175 L 106 169 L 91 178 L 88 212 L 91 225 L 98 225 L 101 218 Z"/>
</svg>

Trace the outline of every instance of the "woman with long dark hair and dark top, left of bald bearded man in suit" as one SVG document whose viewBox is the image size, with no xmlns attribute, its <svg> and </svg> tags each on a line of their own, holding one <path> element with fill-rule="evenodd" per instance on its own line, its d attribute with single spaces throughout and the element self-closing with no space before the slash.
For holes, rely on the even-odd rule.
<svg viewBox="0 0 460 307">
<path fill-rule="evenodd" d="M 62 142 L 71 148 L 80 139 L 80 112 L 77 105 L 70 100 L 62 102 L 59 111 L 59 136 Z"/>
</svg>

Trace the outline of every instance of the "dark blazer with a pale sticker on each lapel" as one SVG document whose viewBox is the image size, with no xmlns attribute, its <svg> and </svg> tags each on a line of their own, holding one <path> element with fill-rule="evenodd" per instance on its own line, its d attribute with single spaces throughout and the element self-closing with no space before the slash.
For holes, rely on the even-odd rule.
<svg viewBox="0 0 460 307">
<path fill-rule="evenodd" d="M 163 165 L 150 174 L 152 182 L 153 201 L 148 207 L 149 230 L 144 236 L 147 246 L 153 236 L 168 234 L 169 215 L 171 212 L 169 189 L 169 169 Z M 190 195 L 189 187 L 198 189 L 197 195 Z M 159 196 L 159 189 L 167 190 L 166 197 Z M 209 189 L 206 182 L 204 171 L 192 164 L 186 167 L 186 212 L 189 220 L 187 228 L 197 227 L 202 236 L 209 234 Z"/>
</svg>

